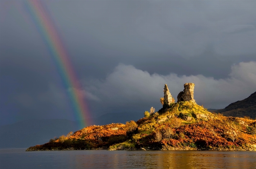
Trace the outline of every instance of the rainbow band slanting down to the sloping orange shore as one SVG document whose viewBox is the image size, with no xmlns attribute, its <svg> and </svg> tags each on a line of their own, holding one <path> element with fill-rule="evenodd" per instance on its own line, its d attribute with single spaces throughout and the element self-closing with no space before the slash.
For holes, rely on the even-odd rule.
<svg viewBox="0 0 256 169">
<path fill-rule="evenodd" d="M 75 75 L 75 71 L 69 61 L 69 55 L 46 9 L 39 0 L 27 0 L 26 8 L 52 55 L 64 86 L 67 89 L 67 94 L 72 103 L 75 119 L 79 122 L 79 127 L 83 128 L 91 125 L 92 122 L 89 122 L 91 118 L 85 104 L 84 94 L 81 93 L 83 91 L 81 84 Z"/>
</svg>

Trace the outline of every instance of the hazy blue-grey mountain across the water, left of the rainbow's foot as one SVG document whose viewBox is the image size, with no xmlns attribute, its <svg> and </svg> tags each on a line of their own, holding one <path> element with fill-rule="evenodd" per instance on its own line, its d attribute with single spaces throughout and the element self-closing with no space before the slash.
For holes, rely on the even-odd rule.
<svg viewBox="0 0 256 169">
<path fill-rule="evenodd" d="M 33 119 L 0 126 L 0 148 L 23 148 L 79 130 L 66 119 Z"/>
</svg>

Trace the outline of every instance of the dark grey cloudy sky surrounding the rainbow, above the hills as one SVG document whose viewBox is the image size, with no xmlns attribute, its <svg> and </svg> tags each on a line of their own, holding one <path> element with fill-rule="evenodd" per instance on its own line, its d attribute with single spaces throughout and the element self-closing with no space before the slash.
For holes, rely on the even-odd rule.
<svg viewBox="0 0 256 169">
<path fill-rule="evenodd" d="M 68 68 L 54 60 L 55 36 L 43 33 L 35 4 L 79 88 L 65 85 Z M 164 84 L 177 100 L 195 83 L 205 108 L 243 100 L 256 91 L 255 8 L 255 0 L 1 0 L 0 125 L 77 120 L 70 92 L 91 119 L 159 110 Z"/>
</svg>

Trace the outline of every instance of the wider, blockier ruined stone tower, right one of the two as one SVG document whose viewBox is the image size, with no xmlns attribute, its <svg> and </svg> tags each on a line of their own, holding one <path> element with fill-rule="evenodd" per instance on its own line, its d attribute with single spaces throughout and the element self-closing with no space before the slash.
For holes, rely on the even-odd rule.
<svg viewBox="0 0 256 169">
<path fill-rule="evenodd" d="M 177 96 L 177 103 L 182 101 L 192 101 L 196 103 L 194 100 L 194 83 L 185 83 L 184 84 L 184 90 L 179 92 Z"/>
</svg>

